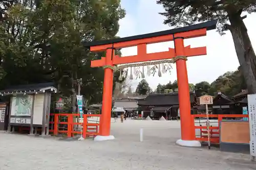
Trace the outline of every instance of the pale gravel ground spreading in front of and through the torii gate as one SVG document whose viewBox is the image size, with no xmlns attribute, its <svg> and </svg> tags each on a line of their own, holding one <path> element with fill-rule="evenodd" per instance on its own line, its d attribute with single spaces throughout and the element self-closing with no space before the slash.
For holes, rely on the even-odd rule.
<svg viewBox="0 0 256 170">
<path fill-rule="evenodd" d="M 116 139 L 101 142 L 0 132 L 0 169 L 256 169 L 249 155 L 176 145 L 179 126 L 176 120 L 118 120 L 111 127 Z M 143 142 L 140 128 L 144 128 Z"/>
</svg>

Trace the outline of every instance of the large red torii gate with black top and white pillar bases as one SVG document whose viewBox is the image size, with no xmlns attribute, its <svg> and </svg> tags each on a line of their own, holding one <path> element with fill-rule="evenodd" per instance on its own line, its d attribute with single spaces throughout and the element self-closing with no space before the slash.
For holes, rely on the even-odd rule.
<svg viewBox="0 0 256 170">
<path fill-rule="evenodd" d="M 113 88 L 113 66 L 117 64 L 137 63 L 164 59 L 177 59 L 177 80 L 179 106 L 181 116 L 181 139 L 177 143 L 185 146 L 201 146 L 195 140 L 194 118 L 190 114 L 190 97 L 187 77 L 186 57 L 206 55 L 206 47 L 190 48 L 184 46 L 184 39 L 206 36 L 207 30 L 216 29 L 218 20 L 211 20 L 188 27 L 166 30 L 156 33 L 143 34 L 131 37 L 124 37 L 111 40 L 87 42 L 84 45 L 89 47 L 92 52 L 106 51 L 106 56 L 100 60 L 91 61 L 91 67 L 104 67 L 102 115 L 100 117 L 100 136 L 95 140 L 114 139 L 110 135 L 111 125 L 111 106 Z M 146 44 L 165 41 L 174 41 L 175 48 L 169 48 L 166 52 L 146 53 Z M 137 55 L 119 57 L 115 56 L 115 49 L 136 46 Z"/>
</svg>

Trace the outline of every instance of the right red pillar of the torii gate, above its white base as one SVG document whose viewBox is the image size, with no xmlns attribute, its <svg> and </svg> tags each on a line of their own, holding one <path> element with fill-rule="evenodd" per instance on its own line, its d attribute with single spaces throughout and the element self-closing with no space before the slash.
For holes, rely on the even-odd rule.
<svg viewBox="0 0 256 170">
<path fill-rule="evenodd" d="M 176 37 L 175 53 L 176 56 L 185 56 L 183 37 Z M 179 59 L 176 61 L 178 94 L 180 106 L 180 122 L 181 122 L 181 139 L 195 140 L 196 134 L 194 118 L 191 116 L 190 110 L 190 92 L 187 77 L 186 60 Z"/>
</svg>

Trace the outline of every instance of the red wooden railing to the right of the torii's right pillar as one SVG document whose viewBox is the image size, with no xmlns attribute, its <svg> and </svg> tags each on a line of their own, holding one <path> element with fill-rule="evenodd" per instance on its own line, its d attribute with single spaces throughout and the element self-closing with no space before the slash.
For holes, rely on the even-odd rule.
<svg viewBox="0 0 256 170">
<path fill-rule="evenodd" d="M 203 117 L 206 118 L 206 114 L 193 114 L 194 118 L 196 117 Z M 210 126 L 209 125 L 209 131 L 210 131 L 210 141 L 213 143 L 219 143 L 220 142 L 220 122 L 223 118 L 244 118 L 248 117 L 248 114 L 209 114 L 209 118 L 216 117 L 218 118 L 218 126 Z M 209 123 L 211 124 L 211 123 Z M 200 141 L 208 141 L 208 135 L 207 135 L 207 126 L 196 126 L 195 130 L 200 129 L 200 136 L 196 136 L 196 140 Z"/>
</svg>

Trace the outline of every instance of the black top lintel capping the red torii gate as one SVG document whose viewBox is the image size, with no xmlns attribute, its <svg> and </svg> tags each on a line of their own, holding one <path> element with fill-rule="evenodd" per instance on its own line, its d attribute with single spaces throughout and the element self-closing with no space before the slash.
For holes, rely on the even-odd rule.
<svg viewBox="0 0 256 170">
<path fill-rule="evenodd" d="M 206 21 L 206 22 L 202 22 L 202 23 L 197 23 L 197 24 L 191 25 L 191 26 L 186 26 L 186 27 L 176 28 L 176 29 L 171 29 L 171 30 L 165 30 L 165 31 L 159 31 L 159 32 L 155 32 L 155 33 L 148 33 L 148 34 L 108 39 L 108 40 L 84 42 L 84 46 L 90 47 L 90 46 L 96 46 L 96 45 L 105 45 L 105 44 L 112 44 L 112 43 L 118 43 L 118 42 L 124 42 L 124 41 L 132 41 L 132 40 L 158 37 L 158 36 L 162 36 L 162 35 L 175 34 L 175 33 L 181 33 L 181 32 L 192 31 L 192 30 L 199 30 L 199 29 L 203 29 L 203 28 L 206 28 L 206 30 L 209 31 L 209 30 L 216 29 L 217 23 L 218 23 L 218 19 L 214 19 L 214 20 L 210 20 L 210 21 Z"/>
</svg>

